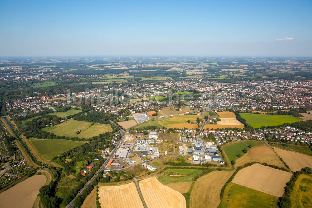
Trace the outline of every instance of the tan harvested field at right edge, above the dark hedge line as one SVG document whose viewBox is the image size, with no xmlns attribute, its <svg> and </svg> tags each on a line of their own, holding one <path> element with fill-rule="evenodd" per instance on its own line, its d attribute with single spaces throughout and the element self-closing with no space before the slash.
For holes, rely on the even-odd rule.
<svg viewBox="0 0 312 208">
<path fill-rule="evenodd" d="M 274 147 L 274 151 L 280 156 L 286 165 L 292 171 L 300 171 L 301 168 L 310 167 L 312 168 L 312 157 L 297 152 L 287 151 Z"/>
</svg>

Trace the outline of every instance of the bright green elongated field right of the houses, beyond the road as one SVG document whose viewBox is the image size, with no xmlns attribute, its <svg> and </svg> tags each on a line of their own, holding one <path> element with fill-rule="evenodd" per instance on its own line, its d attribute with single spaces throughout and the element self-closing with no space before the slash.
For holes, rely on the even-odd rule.
<svg viewBox="0 0 312 208">
<path fill-rule="evenodd" d="M 295 123 L 302 121 L 299 118 L 289 115 L 268 115 L 255 113 L 240 113 L 246 123 L 253 128 L 261 128 L 262 126 L 277 126 L 283 123 Z"/>
</svg>

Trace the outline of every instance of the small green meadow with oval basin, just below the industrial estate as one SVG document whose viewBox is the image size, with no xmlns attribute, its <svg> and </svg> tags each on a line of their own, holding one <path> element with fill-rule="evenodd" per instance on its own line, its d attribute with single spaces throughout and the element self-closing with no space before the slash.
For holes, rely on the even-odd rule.
<svg viewBox="0 0 312 208">
<path fill-rule="evenodd" d="M 192 169 L 168 169 L 158 176 L 158 180 L 163 183 L 173 183 L 180 181 L 192 181 L 193 177 L 202 173 L 202 170 Z"/>
</svg>

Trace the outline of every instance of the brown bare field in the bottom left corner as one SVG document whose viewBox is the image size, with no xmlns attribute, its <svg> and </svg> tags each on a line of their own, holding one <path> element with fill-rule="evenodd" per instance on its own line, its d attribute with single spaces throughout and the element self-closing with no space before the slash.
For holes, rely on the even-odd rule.
<svg viewBox="0 0 312 208">
<path fill-rule="evenodd" d="M 0 194 L 2 208 L 32 207 L 39 189 L 46 183 L 45 175 L 34 175 Z"/>
</svg>

